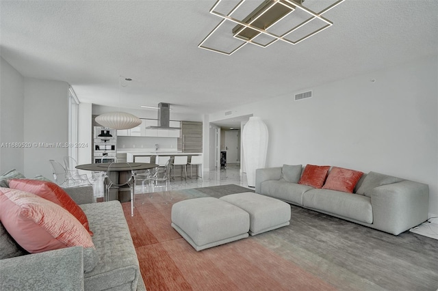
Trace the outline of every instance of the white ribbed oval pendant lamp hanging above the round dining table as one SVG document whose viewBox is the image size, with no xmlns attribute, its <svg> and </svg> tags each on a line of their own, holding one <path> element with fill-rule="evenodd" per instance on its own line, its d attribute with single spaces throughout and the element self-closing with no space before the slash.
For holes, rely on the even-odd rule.
<svg viewBox="0 0 438 291">
<path fill-rule="evenodd" d="M 108 112 L 103 113 L 96 117 L 96 122 L 101 124 L 101 126 L 105 126 L 107 128 L 113 129 L 130 129 L 142 124 L 142 120 L 138 118 L 136 115 L 132 115 L 131 113 L 120 111 L 120 87 L 122 87 L 122 79 L 125 81 L 131 81 L 131 79 L 125 79 L 123 76 L 119 76 L 119 86 L 118 86 L 118 101 L 119 107 L 117 112 Z M 126 87 L 123 86 L 123 87 Z"/>
</svg>

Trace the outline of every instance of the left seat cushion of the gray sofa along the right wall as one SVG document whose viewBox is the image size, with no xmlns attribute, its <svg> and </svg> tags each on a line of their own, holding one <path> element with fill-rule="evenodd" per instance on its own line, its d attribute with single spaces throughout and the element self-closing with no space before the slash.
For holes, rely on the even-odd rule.
<svg viewBox="0 0 438 291">
<path fill-rule="evenodd" d="M 284 180 L 267 180 L 261 182 L 260 194 L 302 205 L 302 194 L 311 189 L 313 189 L 312 186 L 289 183 Z"/>
</svg>

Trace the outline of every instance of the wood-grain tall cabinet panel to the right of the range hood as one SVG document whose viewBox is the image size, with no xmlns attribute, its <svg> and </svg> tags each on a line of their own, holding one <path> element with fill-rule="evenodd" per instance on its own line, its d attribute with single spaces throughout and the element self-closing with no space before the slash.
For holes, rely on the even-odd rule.
<svg viewBox="0 0 438 291">
<path fill-rule="evenodd" d="M 182 121 L 177 146 L 182 152 L 203 152 L 203 123 Z"/>
</svg>

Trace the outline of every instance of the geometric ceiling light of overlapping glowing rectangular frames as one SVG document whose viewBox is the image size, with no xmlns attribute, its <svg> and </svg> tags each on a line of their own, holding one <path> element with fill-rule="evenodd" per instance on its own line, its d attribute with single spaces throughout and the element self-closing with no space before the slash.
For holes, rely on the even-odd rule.
<svg viewBox="0 0 438 291">
<path fill-rule="evenodd" d="M 246 44 L 263 48 L 278 40 L 298 44 L 331 27 L 333 23 L 322 14 L 345 0 L 334 1 L 318 13 L 302 6 L 303 1 L 265 0 L 257 5 L 255 1 L 218 0 L 209 12 L 222 20 L 198 47 L 231 55 Z"/>
</svg>

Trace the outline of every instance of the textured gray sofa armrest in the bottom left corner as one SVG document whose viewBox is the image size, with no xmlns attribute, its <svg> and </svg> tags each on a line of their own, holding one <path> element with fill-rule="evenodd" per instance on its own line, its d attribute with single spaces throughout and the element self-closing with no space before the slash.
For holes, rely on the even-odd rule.
<svg viewBox="0 0 438 291">
<path fill-rule="evenodd" d="M 0 261 L 0 290 L 83 290 L 83 248 L 68 247 Z"/>
</svg>

